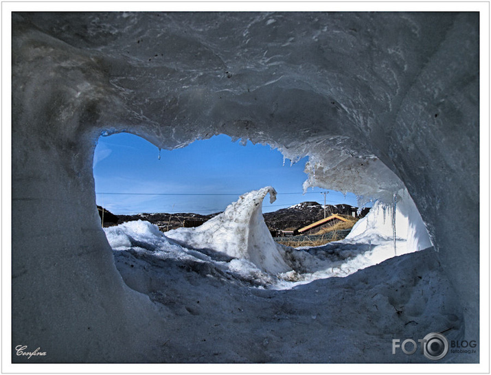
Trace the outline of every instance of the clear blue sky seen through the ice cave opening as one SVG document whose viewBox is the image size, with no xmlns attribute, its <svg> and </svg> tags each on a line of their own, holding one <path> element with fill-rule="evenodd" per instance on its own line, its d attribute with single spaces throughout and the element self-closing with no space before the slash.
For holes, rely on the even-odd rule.
<svg viewBox="0 0 491 375">
<path fill-rule="evenodd" d="M 240 194 L 271 185 L 277 200 L 263 203 L 263 212 L 304 201 L 323 204 L 321 190 L 302 192 L 307 158 L 290 166 L 278 150 L 247 146 L 227 135 L 195 141 L 177 150 L 161 150 L 141 137 L 120 133 L 100 137 L 93 174 L 98 205 L 114 214 L 140 212 L 220 212 Z M 110 194 L 108 194 L 110 193 Z M 115 194 L 119 193 L 119 194 Z M 354 194 L 330 191 L 328 204 L 356 206 Z"/>
</svg>

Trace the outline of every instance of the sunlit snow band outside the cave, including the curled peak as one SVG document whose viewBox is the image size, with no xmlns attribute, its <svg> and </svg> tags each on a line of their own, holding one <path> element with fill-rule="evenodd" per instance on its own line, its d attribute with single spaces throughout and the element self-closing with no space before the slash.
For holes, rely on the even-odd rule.
<svg viewBox="0 0 491 375">
<path fill-rule="evenodd" d="M 240 196 L 222 214 L 200 227 L 162 234 L 146 221 L 104 229 L 115 251 L 148 253 L 162 260 L 206 263 L 214 272 L 232 275 L 253 286 L 289 289 L 327 277 L 344 277 L 396 255 L 391 207 L 376 203 L 352 233 L 320 247 L 293 249 L 274 242 L 262 218 L 262 200 L 271 187 Z M 401 194 L 396 212 L 397 255 L 431 247 L 418 210 Z M 424 229 L 424 231 L 422 230 Z"/>
</svg>

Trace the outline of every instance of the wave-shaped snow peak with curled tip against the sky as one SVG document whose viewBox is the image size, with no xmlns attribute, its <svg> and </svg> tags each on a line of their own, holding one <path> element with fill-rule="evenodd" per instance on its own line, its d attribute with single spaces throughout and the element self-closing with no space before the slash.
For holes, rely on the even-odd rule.
<svg viewBox="0 0 491 375">
<path fill-rule="evenodd" d="M 290 271 L 279 253 L 281 245 L 274 242 L 262 217 L 262 201 L 266 194 L 271 203 L 276 200 L 276 190 L 271 186 L 254 190 L 240 196 L 225 212 L 200 227 L 174 229 L 165 235 L 186 247 L 211 249 L 249 260 L 272 274 Z"/>
</svg>

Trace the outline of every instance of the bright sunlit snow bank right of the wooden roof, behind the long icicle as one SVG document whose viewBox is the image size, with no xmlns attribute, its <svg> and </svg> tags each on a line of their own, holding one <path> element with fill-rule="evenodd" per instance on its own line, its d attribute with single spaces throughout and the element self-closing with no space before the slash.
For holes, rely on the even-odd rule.
<svg viewBox="0 0 491 375">
<path fill-rule="evenodd" d="M 418 209 L 403 189 L 391 205 L 376 201 L 343 240 L 319 247 L 284 247 L 281 253 L 294 271 L 280 274 L 275 287 L 292 288 L 317 279 L 345 277 L 396 255 L 432 246 Z"/>
</svg>

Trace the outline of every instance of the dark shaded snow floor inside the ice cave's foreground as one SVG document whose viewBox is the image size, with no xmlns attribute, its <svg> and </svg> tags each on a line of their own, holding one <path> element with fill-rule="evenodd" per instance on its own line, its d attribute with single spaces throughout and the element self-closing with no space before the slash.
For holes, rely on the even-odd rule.
<svg viewBox="0 0 491 375">
<path fill-rule="evenodd" d="M 260 287 L 270 279 L 250 264 L 225 269 L 185 250 L 130 248 L 116 251 L 115 262 L 126 284 L 159 308 L 158 361 L 424 363 L 431 361 L 419 352 L 391 354 L 392 339 L 449 328 L 448 339 L 463 337 L 433 249 L 285 291 Z"/>
</svg>

